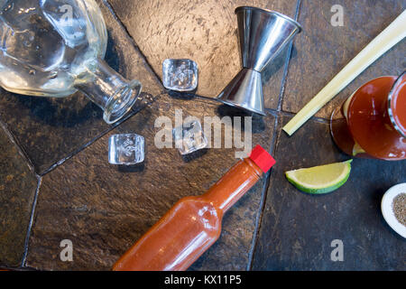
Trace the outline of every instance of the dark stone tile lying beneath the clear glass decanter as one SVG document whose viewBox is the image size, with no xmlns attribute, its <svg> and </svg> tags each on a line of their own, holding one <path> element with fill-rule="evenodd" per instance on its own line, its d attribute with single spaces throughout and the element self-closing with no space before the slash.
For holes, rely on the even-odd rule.
<svg viewBox="0 0 406 289">
<path fill-rule="evenodd" d="M 101 4 L 101 1 L 98 1 Z M 128 79 L 139 79 L 143 91 L 159 94 L 161 85 L 134 47 L 125 29 L 101 5 L 109 34 L 106 61 Z M 0 91 L 0 117 L 42 173 L 110 126 L 103 112 L 81 93 L 69 98 L 37 98 Z"/>
</svg>

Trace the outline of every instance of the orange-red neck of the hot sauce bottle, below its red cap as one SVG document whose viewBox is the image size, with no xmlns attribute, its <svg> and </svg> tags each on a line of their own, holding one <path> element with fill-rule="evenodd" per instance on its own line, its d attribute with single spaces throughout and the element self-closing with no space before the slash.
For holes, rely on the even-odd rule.
<svg viewBox="0 0 406 289">
<path fill-rule="evenodd" d="M 245 158 L 235 163 L 201 198 L 225 213 L 262 176 L 263 171 L 251 159 Z"/>
</svg>

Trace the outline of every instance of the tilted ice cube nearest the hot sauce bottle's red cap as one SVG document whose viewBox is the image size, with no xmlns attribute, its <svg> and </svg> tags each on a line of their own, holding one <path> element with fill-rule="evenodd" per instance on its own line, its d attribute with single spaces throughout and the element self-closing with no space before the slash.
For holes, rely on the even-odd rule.
<svg viewBox="0 0 406 289">
<path fill-rule="evenodd" d="M 191 154 L 208 146 L 208 139 L 203 134 L 200 123 L 192 120 L 173 129 L 175 146 L 180 154 Z"/>
</svg>

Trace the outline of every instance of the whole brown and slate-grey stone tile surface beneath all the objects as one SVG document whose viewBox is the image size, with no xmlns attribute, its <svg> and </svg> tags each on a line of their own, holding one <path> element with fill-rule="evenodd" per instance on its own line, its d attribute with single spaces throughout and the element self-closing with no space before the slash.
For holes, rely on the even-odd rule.
<svg viewBox="0 0 406 289">
<path fill-rule="evenodd" d="M 404 1 L 143 1 L 98 0 L 109 33 L 106 60 L 140 79 L 152 103 L 117 126 L 86 98 L 0 94 L 0 267 L 108 270 L 181 197 L 200 194 L 235 163 L 235 149 L 209 149 L 182 158 L 158 149 L 157 117 L 175 109 L 196 117 L 245 117 L 216 97 L 239 70 L 234 8 L 256 5 L 296 17 L 304 32 L 264 72 L 267 117 L 254 117 L 253 143 L 278 161 L 272 172 L 227 212 L 217 243 L 191 270 L 404 270 L 405 242 L 380 213 L 385 190 L 406 182 L 406 163 L 355 160 L 350 180 L 326 196 L 310 196 L 283 172 L 346 159 L 332 143 L 333 107 L 368 79 L 405 69 L 405 42 L 376 61 L 292 137 L 285 124 L 357 51 L 390 23 Z M 332 27 L 330 8 L 345 8 Z M 162 93 L 161 61 L 198 61 L 197 96 Z M 206 98 L 201 98 L 201 97 Z M 107 163 L 107 138 L 145 136 L 146 159 L 134 167 Z M 74 261 L 61 262 L 70 239 Z M 342 239 L 344 262 L 330 243 Z"/>
</svg>

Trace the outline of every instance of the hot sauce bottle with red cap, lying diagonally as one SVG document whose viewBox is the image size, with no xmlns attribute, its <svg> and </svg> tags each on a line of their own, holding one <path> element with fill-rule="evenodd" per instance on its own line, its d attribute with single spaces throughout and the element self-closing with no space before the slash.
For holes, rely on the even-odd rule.
<svg viewBox="0 0 406 289">
<path fill-rule="evenodd" d="M 189 268 L 221 233 L 224 213 L 275 163 L 257 145 L 201 196 L 179 200 L 122 256 L 115 271 L 182 271 Z"/>
</svg>

